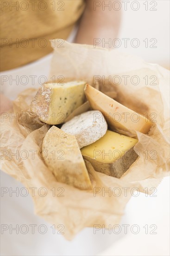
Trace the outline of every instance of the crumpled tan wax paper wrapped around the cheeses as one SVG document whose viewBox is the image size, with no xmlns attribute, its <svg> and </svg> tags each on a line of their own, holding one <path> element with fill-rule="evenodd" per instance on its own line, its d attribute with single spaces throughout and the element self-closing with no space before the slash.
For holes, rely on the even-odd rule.
<svg viewBox="0 0 170 256">
<path fill-rule="evenodd" d="M 104 224 L 105 228 L 109 224 L 118 224 L 126 203 L 132 196 L 131 189 L 136 187 L 145 192 L 147 187 L 151 194 L 151 188 L 157 187 L 161 179 L 168 175 L 169 110 L 166 97 L 169 90 L 169 72 L 163 67 L 145 63 L 138 57 L 122 54 L 117 50 L 94 49 L 66 41 L 60 47 L 57 40 L 53 45 L 54 43 L 50 78 L 55 76 L 57 81 L 59 76 L 63 76 L 64 81 L 85 80 L 92 86 L 96 86 L 98 81 L 101 91 L 113 93 L 114 96 L 117 94 L 117 101 L 142 115 L 147 113 L 148 118 L 155 121 L 149 135 L 137 132 L 139 142 L 134 149 L 138 151 L 139 158 L 120 179 L 96 172 L 86 162 L 94 189 L 82 191 L 57 182 L 41 159 L 44 157 L 40 154 L 42 141 L 49 125 L 38 121 L 37 116 L 29 112 L 31 99 L 37 92 L 35 89 L 22 92 L 13 102 L 13 115 L 18 115 L 18 120 L 12 119 L 12 114 L 3 114 L 2 170 L 22 182 L 31 195 L 30 188 L 37 188 L 32 196 L 35 214 L 55 224 L 58 230 L 61 230 L 58 225 L 64 225 L 63 236 L 72 239 L 80 230 L 93 227 L 94 224 Z M 116 80 L 122 78 L 122 75 L 130 78 L 136 75 L 140 81 L 134 85 L 136 81 L 131 82 L 128 77 L 126 82 L 124 78 L 121 82 Z M 111 84 L 102 81 L 109 76 L 114 77 Z M 152 84 L 155 77 L 157 81 Z M 88 105 L 85 106 L 84 110 L 87 110 Z M 21 157 L 10 157 L 10 150 L 12 153 L 18 150 L 22 153 Z M 40 195 L 39 188 L 45 188 Z M 127 195 L 123 188 L 129 188 L 126 189 Z M 104 193 L 105 191 L 114 193 Z"/>
</svg>

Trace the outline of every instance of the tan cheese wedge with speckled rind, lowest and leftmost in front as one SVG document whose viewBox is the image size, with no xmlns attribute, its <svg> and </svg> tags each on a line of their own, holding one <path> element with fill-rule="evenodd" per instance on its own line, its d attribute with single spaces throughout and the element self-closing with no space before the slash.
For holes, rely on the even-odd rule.
<svg viewBox="0 0 170 256">
<path fill-rule="evenodd" d="M 52 126 L 44 137 L 42 149 L 47 155 L 44 161 L 58 182 L 82 190 L 92 189 L 88 170 L 74 135 L 68 135 Z"/>
</svg>

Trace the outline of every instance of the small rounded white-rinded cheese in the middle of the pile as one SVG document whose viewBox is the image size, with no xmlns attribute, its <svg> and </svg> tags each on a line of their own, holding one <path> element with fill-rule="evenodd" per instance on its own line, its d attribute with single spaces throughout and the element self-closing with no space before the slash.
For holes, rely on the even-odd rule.
<svg viewBox="0 0 170 256">
<path fill-rule="evenodd" d="M 79 148 L 83 148 L 105 135 L 107 122 L 100 111 L 92 110 L 75 116 L 64 123 L 61 129 L 75 135 Z"/>
</svg>

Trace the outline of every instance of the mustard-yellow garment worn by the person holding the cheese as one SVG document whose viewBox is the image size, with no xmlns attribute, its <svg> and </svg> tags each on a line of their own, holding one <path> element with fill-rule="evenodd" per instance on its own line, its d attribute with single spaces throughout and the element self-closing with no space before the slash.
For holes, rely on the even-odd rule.
<svg viewBox="0 0 170 256">
<path fill-rule="evenodd" d="M 0 0 L 0 71 L 36 61 L 52 51 L 50 39 L 67 39 L 83 0 Z"/>
</svg>

